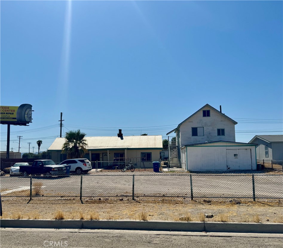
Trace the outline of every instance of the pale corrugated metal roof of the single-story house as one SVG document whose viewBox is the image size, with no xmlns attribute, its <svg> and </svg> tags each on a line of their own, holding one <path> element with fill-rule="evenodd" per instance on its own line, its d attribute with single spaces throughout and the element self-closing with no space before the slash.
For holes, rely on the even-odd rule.
<svg viewBox="0 0 283 248">
<path fill-rule="evenodd" d="M 144 136 L 104 136 L 104 137 L 85 137 L 88 146 L 86 149 L 125 149 L 125 148 L 144 148 L 162 150 L 162 135 Z M 65 138 L 56 138 L 49 151 L 62 150 Z"/>
</svg>

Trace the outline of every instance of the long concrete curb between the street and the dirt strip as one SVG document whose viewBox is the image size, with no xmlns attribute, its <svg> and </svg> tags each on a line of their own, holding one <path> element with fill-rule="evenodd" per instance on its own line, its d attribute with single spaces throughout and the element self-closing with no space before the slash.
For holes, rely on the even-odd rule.
<svg viewBox="0 0 283 248">
<path fill-rule="evenodd" d="M 5 228 L 129 229 L 185 232 L 283 233 L 283 223 L 172 222 L 162 220 L 14 220 L 1 219 Z"/>
</svg>

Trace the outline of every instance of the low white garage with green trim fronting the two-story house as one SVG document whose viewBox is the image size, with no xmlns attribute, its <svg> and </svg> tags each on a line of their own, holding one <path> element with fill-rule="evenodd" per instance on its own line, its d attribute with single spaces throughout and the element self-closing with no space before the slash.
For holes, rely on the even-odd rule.
<svg viewBox="0 0 283 248">
<path fill-rule="evenodd" d="M 181 148 L 189 171 L 256 170 L 256 145 L 216 141 Z"/>
</svg>

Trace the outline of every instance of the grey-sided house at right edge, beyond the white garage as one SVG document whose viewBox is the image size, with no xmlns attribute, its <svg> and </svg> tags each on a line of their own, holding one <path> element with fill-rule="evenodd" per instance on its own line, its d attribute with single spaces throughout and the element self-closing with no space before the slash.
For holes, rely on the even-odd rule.
<svg viewBox="0 0 283 248">
<path fill-rule="evenodd" d="M 283 160 L 283 135 L 256 135 L 249 143 L 257 144 L 257 159 Z"/>
</svg>

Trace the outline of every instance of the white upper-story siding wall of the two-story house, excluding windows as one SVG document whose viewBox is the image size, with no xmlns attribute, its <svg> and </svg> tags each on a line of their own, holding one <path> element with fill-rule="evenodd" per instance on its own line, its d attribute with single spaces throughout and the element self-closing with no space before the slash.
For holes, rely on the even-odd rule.
<svg viewBox="0 0 283 248">
<path fill-rule="evenodd" d="M 203 109 L 210 110 L 210 117 L 202 116 Z M 213 109 L 203 109 L 181 124 L 181 146 L 219 140 L 235 142 L 235 124 Z M 204 136 L 192 136 L 192 127 L 204 127 Z M 217 129 L 222 128 L 225 129 L 225 136 L 217 136 Z"/>
</svg>

